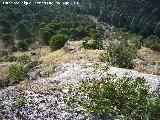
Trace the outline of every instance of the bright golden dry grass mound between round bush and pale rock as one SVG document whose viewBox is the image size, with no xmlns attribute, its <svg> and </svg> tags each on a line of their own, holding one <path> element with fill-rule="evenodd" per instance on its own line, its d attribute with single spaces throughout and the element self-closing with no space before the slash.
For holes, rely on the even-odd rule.
<svg viewBox="0 0 160 120">
<path fill-rule="evenodd" d="M 102 50 L 86 50 L 81 47 L 82 41 L 72 42 L 69 48 L 75 48 L 76 52 L 67 52 L 66 49 L 49 53 L 46 56 L 42 56 L 40 59 L 45 63 L 67 63 L 72 59 L 78 59 L 80 57 L 88 57 L 90 59 L 99 59 L 99 55 L 103 52 Z"/>
</svg>

